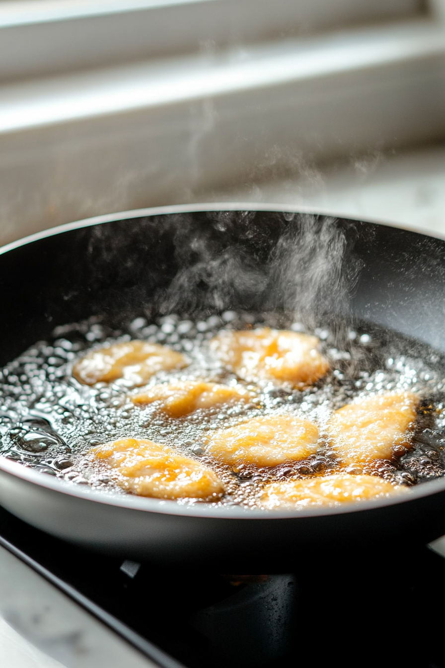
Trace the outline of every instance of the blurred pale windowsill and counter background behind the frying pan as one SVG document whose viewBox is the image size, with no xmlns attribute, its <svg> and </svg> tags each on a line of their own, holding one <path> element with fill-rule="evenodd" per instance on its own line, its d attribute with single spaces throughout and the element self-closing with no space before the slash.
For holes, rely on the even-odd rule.
<svg viewBox="0 0 445 668">
<path fill-rule="evenodd" d="M 221 201 L 445 234 L 445 0 L 0 0 L 0 243 Z"/>
</svg>

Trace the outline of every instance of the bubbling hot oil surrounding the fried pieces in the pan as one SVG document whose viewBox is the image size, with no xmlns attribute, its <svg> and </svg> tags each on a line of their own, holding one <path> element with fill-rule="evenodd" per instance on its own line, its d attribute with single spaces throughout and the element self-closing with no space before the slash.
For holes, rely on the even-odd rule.
<svg viewBox="0 0 445 668">
<path fill-rule="evenodd" d="M 264 381 L 245 383 L 221 366 L 209 351 L 208 341 L 221 329 L 277 327 L 305 331 L 284 315 L 235 313 L 211 315 L 192 321 L 177 315 L 147 323 L 135 317 L 119 330 L 99 318 L 57 327 L 50 341 L 39 341 L 0 372 L 0 453 L 57 476 L 71 484 L 91 486 L 110 494 L 125 494 L 106 465 L 97 462 L 91 448 L 122 438 L 149 439 L 197 458 L 221 478 L 227 493 L 213 505 L 255 507 L 264 484 L 285 478 L 305 478 L 339 470 L 324 426 L 332 411 L 354 397 L 378 391 L 410 389 L 422 400 L 418 409 L 413 447 L 397 460 L 380 460 L 360 471 L 397 484 L 413 485 L 445 474 L 445 358 L 432 348 L 392 331 L 360 325 L 350 330 L 339 347 L 329 327 L 314 331 L 331 371 L 303 391 Z M 143 339 L 161 343 L 187 356 L 190 364 L 179 371 L 157 373 L 147 383 L 205 379 L 249 389 L 250 403 L 197 410 L 180 419 L 168 418 L 153 405 L 135 406 L 132 390 L 120 379 L 114 383 L 81 385 L 71 375 L 73 362 L 87 349 L 103 343 Z M 140 388 L 139 388 L 140 391 Z M 320 430 L 318 450 L 300 462 L 274 468 L 240 466 L 235 470 L 205 454 L 201 440 L 212 430 L 246 422 L 276 411 L 295 413 Z M 178 503 L 202 503 L 179 500 Z"/>
</svg>

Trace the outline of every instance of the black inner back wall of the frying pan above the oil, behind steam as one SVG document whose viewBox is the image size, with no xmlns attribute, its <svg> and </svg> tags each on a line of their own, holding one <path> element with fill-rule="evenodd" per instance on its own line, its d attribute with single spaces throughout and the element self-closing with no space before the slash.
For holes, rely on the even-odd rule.
<svg viewBox="0 0 445 668">
<path fill-rule="evenodd" d="M 297 250 L 296 250 L 297 249 Z M 0 258 L 0 364 L 103 315 L 292 310 L 378 323 L 445 351 L 445 242 L 282 212 L 163 214 L 80 227 Z M 340 316 L 340 319 L 338 318 Z"/>
</svg>

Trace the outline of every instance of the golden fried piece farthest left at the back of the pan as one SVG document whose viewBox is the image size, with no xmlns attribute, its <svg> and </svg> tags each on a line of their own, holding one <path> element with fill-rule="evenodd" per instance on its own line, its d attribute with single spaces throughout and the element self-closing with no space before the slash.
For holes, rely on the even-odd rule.
<svg viewBox="0 0 445 668">
<path fill-rule="evenodd" d="M 111 383 L 125 378 L 133 387 L 143 385 L 157 371 L 171 371 L 187 366 L 180 353 L 157 343 L 128 341 L 91 350 L 73 366 L 79 383 Z"/>
</svg>

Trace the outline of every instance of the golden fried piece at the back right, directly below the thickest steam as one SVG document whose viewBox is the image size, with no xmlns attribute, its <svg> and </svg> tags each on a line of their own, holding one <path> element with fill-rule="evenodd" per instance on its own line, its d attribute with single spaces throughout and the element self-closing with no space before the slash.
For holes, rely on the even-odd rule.
<svg viewBox="0 0 445 668">
<path fill-rule="evenodd" d="M 248 381 L 270 379 L 295 387 L 312 385 L 329 369 L 317 337 L 286 329 L 222 331 L 210 347 L 222 363 Z"/>
</svg>

